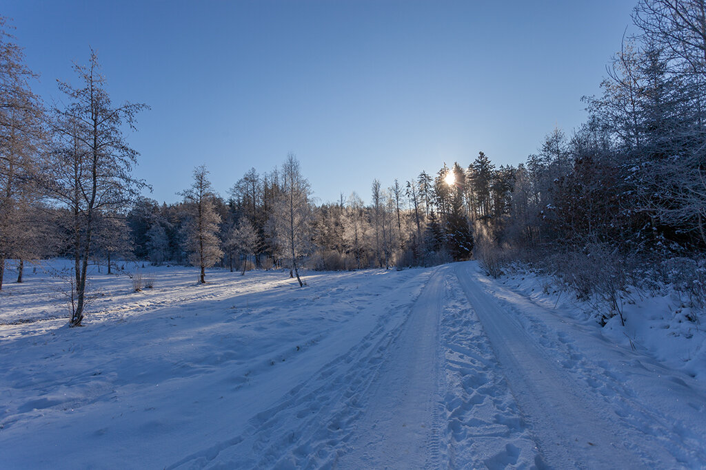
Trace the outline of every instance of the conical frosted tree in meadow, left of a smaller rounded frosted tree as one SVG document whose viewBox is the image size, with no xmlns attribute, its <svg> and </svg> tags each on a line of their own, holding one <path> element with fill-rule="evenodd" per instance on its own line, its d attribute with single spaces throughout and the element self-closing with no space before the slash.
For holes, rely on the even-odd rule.
<svg viewBox="0 0 706 470">
<path fill-rule="evenodd" d="M 184 197 L 191 213 L 185 225 L 186 251 L 191 253 L 191 264 L 201 269 L 199 282 L 205 284 L 205 269 L 216 264 L 223 256 L 217 236 L 221 218 L 215 211 L 215 193 L 211 189 L 205 166 L 194 168 L 191 188 L 179 194 Z"/>
</svg>

